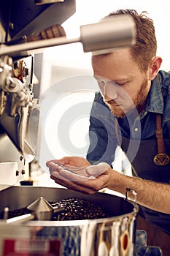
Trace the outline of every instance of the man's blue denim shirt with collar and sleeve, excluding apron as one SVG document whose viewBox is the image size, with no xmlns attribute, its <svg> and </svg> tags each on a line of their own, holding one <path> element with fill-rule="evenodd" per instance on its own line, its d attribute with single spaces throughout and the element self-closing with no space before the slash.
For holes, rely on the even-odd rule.
<svg viewBox="0 0 170 256">
<path fill-rule="evenodd" d="M 144 110 L 139 116 L 131 113 L 118 118 L 121 135 L 133 140 L 155 140 L 156 113 L 163 115 L 163 138 L 170 138 L 170 72 L 159 71 L 152 80 Z M 118 145 L 115 116 L 105 105 L 100 92 L 96 92 L 90 113 L 89 138 L 88 161 L 112 165 Z"/>
</svg>

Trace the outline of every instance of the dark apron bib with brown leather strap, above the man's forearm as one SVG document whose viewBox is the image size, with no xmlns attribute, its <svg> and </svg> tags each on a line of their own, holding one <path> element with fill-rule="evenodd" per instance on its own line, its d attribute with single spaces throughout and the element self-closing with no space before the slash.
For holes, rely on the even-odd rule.
<svg viewBox="0 0 170 256">
<path fill-rule="evenodd" d="M 164 139 L 161 129 L 161 116 L 157 116 L 157 140 L 131 140 L 131 150 L 128 150 L 130 140 L 122 137 L 121 148 L 131 162 L 133 175 L 163 183 L 170 183 L 170 140 Z M 136 143 L 139 149 L 135 152 Z M 133 146 L 134 145 L 134 146 Z"/>
</svg>

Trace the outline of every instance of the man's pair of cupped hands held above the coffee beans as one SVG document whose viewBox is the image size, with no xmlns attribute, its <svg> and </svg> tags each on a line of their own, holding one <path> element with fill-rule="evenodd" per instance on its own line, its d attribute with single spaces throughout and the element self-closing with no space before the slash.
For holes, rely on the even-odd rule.
<svg viewBox="0 0 170 256">
<path fill-rule="evenodd" d="M 106 187 L 112 172 L 107 163 L 90 165 L 82 157 L 63 157 L 59 160 L 48 161 L 47 167 L 50 170 L 50 178 L 57 184 L 88 194 Z"/>
</svg>

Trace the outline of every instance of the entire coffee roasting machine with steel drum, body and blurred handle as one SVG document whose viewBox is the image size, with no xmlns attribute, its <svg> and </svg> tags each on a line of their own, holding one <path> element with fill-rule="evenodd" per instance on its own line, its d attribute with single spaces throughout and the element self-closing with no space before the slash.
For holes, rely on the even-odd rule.
<svg viewBox="0 0 170 256">
<path fill-rule="evenodd" d="M 24 179 L 26 164 L 36 156 L 34 144 L 41 111 L 34 98 L 36 51 L 80 42 L 85 52 L 97 54 L 134 44 L 134 20 L 129 17 L 81 26 L 80 37 L 67 39 L 61 24 L 74 12 L 74 0 L 0 2 L 1 256 L 134 255 L 135 201 L 100 192 L 92 196 L 69 189 L 15 186 Z M 30 116 L 36 118 L 34 126 L 30 126 Z M 49 202 L 67 198 L 76 198 L 74 206 L 79 200 L 88 200 L 106 215 L 61 221 L 67 206 Z M 20 217 L 9 216 L 9 211 L 23 208 L 27 211 Z"/>
</svg>

